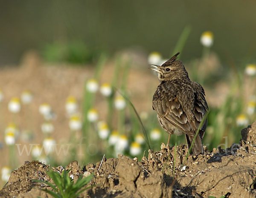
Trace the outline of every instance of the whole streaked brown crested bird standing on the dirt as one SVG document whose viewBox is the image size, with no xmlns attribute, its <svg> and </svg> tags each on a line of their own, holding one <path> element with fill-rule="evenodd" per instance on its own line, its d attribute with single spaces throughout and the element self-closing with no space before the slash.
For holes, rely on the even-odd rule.
<svg viewBox="0 0 256 198">
<path fill-rule="evenodd" d="M 161 66 L 152 65 L 158 72 L 158 85 L 153 96 L 153 110 L 157 112 L 157 120 L 169 134 L 185 133 L 188 148 L 195 137 L 199 124 L 208 111 L 204 88 L 189 79 L 188 72 L 180 60 L 180 53 Z M 191 154 L 204 153 L 202 139 L 207 126 L 207 119 L 199 130 L 192 147 Z M 167 146 L 169 141 L 167 143 Z"/>
</svg>

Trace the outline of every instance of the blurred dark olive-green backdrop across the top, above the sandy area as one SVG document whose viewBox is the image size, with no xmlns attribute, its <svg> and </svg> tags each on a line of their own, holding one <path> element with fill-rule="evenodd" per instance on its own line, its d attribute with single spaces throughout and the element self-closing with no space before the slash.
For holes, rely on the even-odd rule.
<svg viewBox="0 0 256 198">
<path fill-rule="evenodd" d="M 44 52 L 53 42 L 80 42 L 93 54 L 139 47 L 169 57 L 186 25 L 192 31 L 184 61 L 201 55 L 199 39 L 206 30 L 213 32 L 212 50 L 224 62 L 250 60 L 256 52 L 255 0 L 1 0 L 0 5 L 0 65 L 16 64 L 31 48 Z"/>
</svg>

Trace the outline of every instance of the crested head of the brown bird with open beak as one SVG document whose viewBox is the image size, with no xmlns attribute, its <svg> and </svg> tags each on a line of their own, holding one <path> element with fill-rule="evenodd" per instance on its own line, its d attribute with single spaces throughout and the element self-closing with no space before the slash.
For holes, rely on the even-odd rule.
<svg viewBox="0 0 256 198">
<path fill-rule="evenodd" d="M 180 52 L 167 60 L 163 65 L 151 65 L 150 68 L 158 72 L 159 81 L 166 81 L 177 78 L 189 78 L 188 72 L 180 60 L 176 60 Z"/>
</svg>

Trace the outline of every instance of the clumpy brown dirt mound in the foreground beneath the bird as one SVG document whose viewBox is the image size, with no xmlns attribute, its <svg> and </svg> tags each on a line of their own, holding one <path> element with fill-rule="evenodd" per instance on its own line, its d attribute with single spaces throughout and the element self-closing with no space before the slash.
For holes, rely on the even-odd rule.
<svg viewBox="0 0 256 198">
<path fill-rule="evenodd" d="M 87 184 L 92 188 L 81 197 L 255 197 L 256 196 L 256 122 L 242 130 L 239 144 L 223 150 L 214 149 L 205 155 L 189 156 L 186 159 L 185 145 L 164 148 L 157 152 L 149 150 L 137 162 L 119 155 L 118 158 L 103 158 L 96 164 L 87 164 L 82 169 L 77 161 L 66 167 L 76 180 L 79 175 L 94 173 Z M 39 187 L 47 188 L 33 179 L 51 181 L 46 170 L 61 172 L 38 161 L 26 162 L 14 170 L 0 191 L 4 197 L 47 197 Z"/>
</svg>

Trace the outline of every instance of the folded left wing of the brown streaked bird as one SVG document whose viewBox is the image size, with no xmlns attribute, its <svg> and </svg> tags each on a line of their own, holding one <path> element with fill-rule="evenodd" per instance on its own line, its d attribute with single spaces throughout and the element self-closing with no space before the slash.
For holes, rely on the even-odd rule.
<svg viewBox="0 0 256 198">
<path fill-rule="evenodd" d="M 168 87 L 166 89 L 159 85 L 157 91 L 154 93 L 152 106 L 158 116 L 167 123 L 171 123 L 189 136 L 195 135 L 191 123 L 172 88 Z"/>
</svg>

